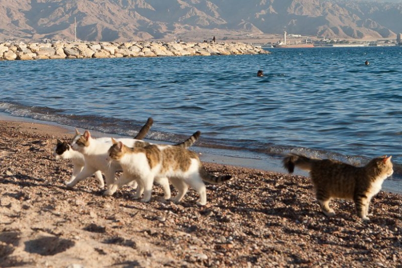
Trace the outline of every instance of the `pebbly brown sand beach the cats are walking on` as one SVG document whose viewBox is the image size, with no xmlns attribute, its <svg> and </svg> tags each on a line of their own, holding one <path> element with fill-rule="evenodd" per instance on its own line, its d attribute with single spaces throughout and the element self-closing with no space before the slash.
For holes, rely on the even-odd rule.
<svg viewBox="0 0 402 268">
<path fill-rule="evenodd" d="M 351 201 L 320 212 L 308 177 L 205 163 L 231 174 L 149 203 L 125 187 L 113 196 L 90 178 L 68 190 L 69 160 L 52 156 L 71 130 L 0 120 L 0 267 L 401 267 L 402 195 L 380 191 L 370 222 Z M 172 193 L 175 194 L 172 188 Z"/>
</svg>

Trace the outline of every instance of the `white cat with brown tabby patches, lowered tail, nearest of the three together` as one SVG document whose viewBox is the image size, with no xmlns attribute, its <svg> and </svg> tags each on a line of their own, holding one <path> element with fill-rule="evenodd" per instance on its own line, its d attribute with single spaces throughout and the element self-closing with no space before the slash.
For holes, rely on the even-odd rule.
<svg viewBox="0 0 402 268">
<path fill-rule="evenodd" d="M 197 191 L 197 204 L 207 204 L 207 191 L 203 181 L 218 184 L 230 180 L 231 175 L 215 176 L 206 172 L 198 155 L 183 146 L 148 145 L 141 148 L 130 148 L 122 142 L 113 140 L 109 149 L 110 163 L 118 163 L 123 175 L 108 188 L 113 194 L 121 185 L 137 181 L 139 191 L 136 198 L 144 193 L 142 202 L 151 199 L 153 180 L 168 177 L 178 194 L 173 201 L 182 200 L 188 191 L 188 185 Z"/>
</svg>

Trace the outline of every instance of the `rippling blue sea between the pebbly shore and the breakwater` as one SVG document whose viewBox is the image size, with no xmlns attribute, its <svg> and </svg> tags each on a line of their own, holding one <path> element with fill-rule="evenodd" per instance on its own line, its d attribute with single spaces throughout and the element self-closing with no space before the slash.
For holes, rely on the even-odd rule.
<svg viewBox="0 0 402 268">
<path fill-rule="evenodd" d="M 289 152 L 355 165 L 392 155 L 383 186 L 401 192 L 402 47 L 268 51 L 0 61 L 0 113 L 124 136 L 153 117 L 153 142 L 200 130 L 202 160 L 279 172 Z"/>
</svg>

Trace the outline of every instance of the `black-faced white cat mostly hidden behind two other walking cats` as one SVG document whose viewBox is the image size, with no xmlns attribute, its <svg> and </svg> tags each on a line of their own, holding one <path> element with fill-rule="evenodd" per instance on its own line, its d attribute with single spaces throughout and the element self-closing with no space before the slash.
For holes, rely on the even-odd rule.
<svg viewBox="0 0 402 268">
<path fill-rule="evenodd" d="M 145 125 L 142 126 L 141 130 L 138 132 L 138 134 L 136 134 L 134 139 L 143 139 L 145 137 L 145 135 L 148 133 L 148 131 L 151 129 L 152 124 L 153 124 L 153 119 L 152 119 L 152 117 L 149 117 L 147 122 L 145 123 Z M 77 137 L 77 135 L 80 135 L 80 134 L 76 129 L 76 135 L 73 138 L 73 140 Z M 102 137 L 102 138 L 98 138 L 97 140 L 109 142 L 109 143 L 111 142 L 110 137 Z M 57 144 L 53 148 L 53 156 L 56 159 L 71 159 L 72 160 L 73 174 L 71 175 L 70 180 L 66 182 L 67 185 L 69 185 L 70 183 L 72 183 L 75 180 L 75 178 L 77 177 L 79 172 L 81 172 L 85 166 L 84 155 L 82 155 L 82 153 L 74 151 L 71 148 L 70 144 L 68 144 L 65 141 L 62 142 L 57 139 Z M 98 186 L 100 188 L 103 188 L 105 186 L 105 183 L 103 182 L 102 172 L 96 171 L 95 177 L 98 180 Z"/>
</svg>

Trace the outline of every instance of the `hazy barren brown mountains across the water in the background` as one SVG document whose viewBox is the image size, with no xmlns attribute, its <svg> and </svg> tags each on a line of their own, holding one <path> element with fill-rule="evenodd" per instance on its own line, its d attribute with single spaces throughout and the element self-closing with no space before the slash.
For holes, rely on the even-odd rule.
<svg viewBox="0 0 402 268">
<path fill-rule="evenodd" d="M 0 41 L 203 39 L 287 33 L 395 38 L 402 1 L 0 0 Z"/>
</svg>

